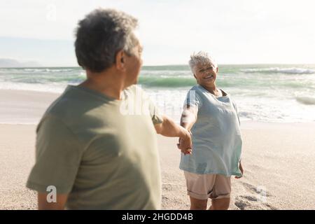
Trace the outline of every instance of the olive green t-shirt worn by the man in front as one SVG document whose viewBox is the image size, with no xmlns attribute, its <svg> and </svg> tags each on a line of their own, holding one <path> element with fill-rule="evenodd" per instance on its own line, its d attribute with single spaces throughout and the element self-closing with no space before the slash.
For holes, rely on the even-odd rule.
<svg viewBox="0 0 315 224">
<path fill-rule="evenodd" d="M 55 186 L 69 194 L 66 209 L 160 209 L 158 123 L 158 109 L 136 85 L 121 100 L 68 85 L 38 124 L 27 187 Z"/>
</svg>

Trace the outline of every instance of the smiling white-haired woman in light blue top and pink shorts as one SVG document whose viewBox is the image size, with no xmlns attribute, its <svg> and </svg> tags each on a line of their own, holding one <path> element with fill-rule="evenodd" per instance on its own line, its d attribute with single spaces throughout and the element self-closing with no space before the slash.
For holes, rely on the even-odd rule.
<svg viewBox="0 0 315 224">
<path fill-rule="evenodd" d="M 216 87 L 218 66 L 207 52 L 190 57 L 197 80 L 186 97 L 181 125 L 192 134 L 193 153 L 181 155 L 190 209 L 228 209 L 231 176 L 243 175 L 241 132 L 237 106 L 230 94 Z M 179 139 L 179 146 L 181 139 Z"/>
</svg>

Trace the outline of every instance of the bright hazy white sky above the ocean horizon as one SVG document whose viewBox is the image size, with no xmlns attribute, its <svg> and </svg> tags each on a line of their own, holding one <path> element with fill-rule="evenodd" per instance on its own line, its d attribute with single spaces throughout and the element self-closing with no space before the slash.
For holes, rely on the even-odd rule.
<svg viewBox="0 0 315 224">
<path fill-rule="evenodd" d="M 0 59 L 77 66 L 74 30 L 99 7 L 138 18 L 144 65 L 315 64 L 313 0 L 0 0 Z"/>
</svg>

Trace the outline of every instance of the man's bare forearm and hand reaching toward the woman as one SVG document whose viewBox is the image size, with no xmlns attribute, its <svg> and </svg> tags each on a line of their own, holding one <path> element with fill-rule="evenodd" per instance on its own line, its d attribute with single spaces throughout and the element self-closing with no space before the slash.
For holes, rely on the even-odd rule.
<svg viewBox="0 0 315 224">
<path fill-rule="evenodd" d="M 162 123 L 154 125 L 156 132 L 165 137 L 179 137 L 182 139 L 182 144 L 179 146 L 179 149 L 181 149 L 184 154 L 191 153 L 192 144 L 190 132 L 180 125 L 176 125 L 171 118 L 167 116 L 162 116 L 162 118 Z"/>
</svg>

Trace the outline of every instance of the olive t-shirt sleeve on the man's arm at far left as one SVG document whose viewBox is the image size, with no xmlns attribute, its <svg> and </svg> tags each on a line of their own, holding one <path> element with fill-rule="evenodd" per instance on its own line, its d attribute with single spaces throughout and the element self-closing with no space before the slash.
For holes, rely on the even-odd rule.
<svg viewBox="0 0 315 224">
<path fill-rule="evenodd" d="M 45 116 L 36 130 L 36 162 L 27 188 L 46 193 L 55 186 L 57 194 L 69 193 L 83 154 L 76 136 L 54 116 Z"/>
</svg>

